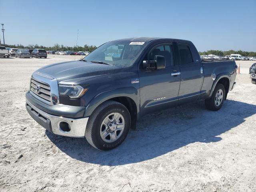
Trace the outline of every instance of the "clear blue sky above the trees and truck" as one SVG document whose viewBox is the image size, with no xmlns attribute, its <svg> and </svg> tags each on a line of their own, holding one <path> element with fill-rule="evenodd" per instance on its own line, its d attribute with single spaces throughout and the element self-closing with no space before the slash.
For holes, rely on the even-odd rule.
<svg viewBox="0 0 256 192">
<path fill-rule="evenodd" d="M 74 46 L 78 33 L 79 46 L 165 37 L 190 40 L 198 51 L 255 52 L 255 14 L 256 0 L 0 0 L 5 43 L 22 45 Z"/>
</svg>

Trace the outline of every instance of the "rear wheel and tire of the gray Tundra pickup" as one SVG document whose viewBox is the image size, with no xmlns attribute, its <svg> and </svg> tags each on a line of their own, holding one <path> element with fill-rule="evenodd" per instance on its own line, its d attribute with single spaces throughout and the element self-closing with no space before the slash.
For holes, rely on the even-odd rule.
<svg viewBox="0 0 256 192">
<path fill-rule="evenodd" d="M 218 83 L 214 88 L 211 98 L 204 101 L 206 108 L 211 111 L 218 111 L 223 105 L 225 96 L 226 92 L 224 85 Z"/>
</svg>

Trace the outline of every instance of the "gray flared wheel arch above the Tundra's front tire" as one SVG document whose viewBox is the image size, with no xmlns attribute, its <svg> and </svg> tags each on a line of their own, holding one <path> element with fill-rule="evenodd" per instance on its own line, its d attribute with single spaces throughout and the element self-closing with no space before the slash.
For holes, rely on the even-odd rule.
<svg viewBox="0 0 256 192">
<path fill-rule="evenodd" d="M 103 102 L 106 100 L 110 100 L 112 98 L 116 97 L 129 97 L 131 98 L 137 107 L 137 113 L 140 112 L 140 97 L 139 92 L 134 87 L 124 87 L 124 88 L 118 88 L 113 90 L 108 90 L 106 92 L 102 92 L 98 94 L 96 97 L 94 97 L 90 103 L 87 105 L 84 117 L 90 116 L 92 112 Z"/>
</svg>

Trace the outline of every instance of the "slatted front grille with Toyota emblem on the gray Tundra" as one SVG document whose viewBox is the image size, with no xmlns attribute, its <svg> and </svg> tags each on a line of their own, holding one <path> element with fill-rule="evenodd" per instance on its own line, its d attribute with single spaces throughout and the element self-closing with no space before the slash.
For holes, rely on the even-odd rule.
<svg viewBox="0 0 256 192">
<path fill-rule="evenodd" d="M 36 86 L 40 87 L 39 92 L 37 92 Z M 43 98 L 44 100 L 52 102 L 50 85 L 43 82 L 39 82 L 35 79 L 31 79 L 30 91 L 32 91 L 34 94 L 36 94 L 40 98 Z"/>
</svg>

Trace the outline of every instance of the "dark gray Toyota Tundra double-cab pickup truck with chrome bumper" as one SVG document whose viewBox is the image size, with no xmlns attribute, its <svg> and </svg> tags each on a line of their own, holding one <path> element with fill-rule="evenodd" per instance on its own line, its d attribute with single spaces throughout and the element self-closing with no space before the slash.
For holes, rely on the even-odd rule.
<svg viewBox="0 0 256 192">
<path fill-rule="evenodd" d="M 115 40 L 82 60 L 34 72 L 26 109 L 53 134 L 85 137 L 94 148 L 110 150 L 144 114 L 196 100 L 219 110 L 236 70 L 234 61 L 202 62 L 187 40 Z"/>
</svg>

